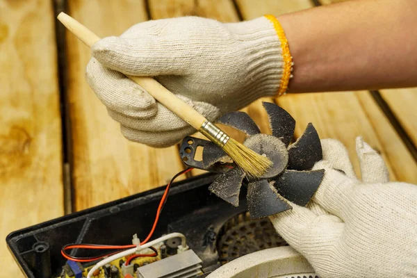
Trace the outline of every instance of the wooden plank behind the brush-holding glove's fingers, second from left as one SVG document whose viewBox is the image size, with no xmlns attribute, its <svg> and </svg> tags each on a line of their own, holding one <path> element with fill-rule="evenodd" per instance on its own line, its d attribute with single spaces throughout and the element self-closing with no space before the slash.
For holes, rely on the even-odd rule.
<svg viewBox="0 0 417 278">
<path fill-rule="evenodd" d="M 101 37 L 148 19 L 145 1 L 76 0 L 68 8 Z M 67 33 L 67 51 L 76 210 L 167 183 L 183 169 L 177 147 L 154 149 L 124 138 L 85 81 L 90 50 Z"/>
</svg>

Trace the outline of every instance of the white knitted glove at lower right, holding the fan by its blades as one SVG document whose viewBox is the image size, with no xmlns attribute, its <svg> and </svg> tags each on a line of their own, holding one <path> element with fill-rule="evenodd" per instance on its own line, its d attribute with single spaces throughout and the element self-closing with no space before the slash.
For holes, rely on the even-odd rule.
<svg viewBox="0 0 417 278">
<path fill-rule="evenodd" d="M 321 278 L 417 277 L 417 186 L 389 182 L 382 157 L 361 138 L 362 181 L 341 142 L 322 140 L 322 148 L 313 169 L 325 176 L 313 202 L 272 215 L 275 229 Z"/>
</svg>

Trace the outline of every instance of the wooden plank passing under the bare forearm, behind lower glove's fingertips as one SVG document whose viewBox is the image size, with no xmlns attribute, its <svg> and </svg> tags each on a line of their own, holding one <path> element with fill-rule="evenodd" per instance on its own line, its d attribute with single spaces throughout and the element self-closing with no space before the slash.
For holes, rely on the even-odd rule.
<svg viewBox="0 0 417 278">
<path fill-rule="evenodd" d="M 313 6 L 308 0 L 237 0 L 237 3 L 245 19 L 259 17 L 265 13 L 277 16 Z M 297 121 L 296 137 L 302 134 L 306 124 L 313 122 L 320 138 L 341 140 L 347 146 L 359 175 L 354 138 L 363 136 L 370 145 L 382 152 L 392 180 L 417 182 L 417 165 L 414 158 L 369 92 L 286 95 L 276 101 Z"/>
</svg>

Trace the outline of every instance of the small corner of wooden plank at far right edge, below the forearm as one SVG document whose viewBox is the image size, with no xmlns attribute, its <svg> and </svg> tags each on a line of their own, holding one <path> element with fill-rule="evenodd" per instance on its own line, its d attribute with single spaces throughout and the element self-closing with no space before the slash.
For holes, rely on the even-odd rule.
<svg viewBox="0 0 417 278">
<path fill-rule="evenodd" d="M 380 92 L 402 128 L 417 146 L 417 88 L 381 90 Z"/>
</svg>

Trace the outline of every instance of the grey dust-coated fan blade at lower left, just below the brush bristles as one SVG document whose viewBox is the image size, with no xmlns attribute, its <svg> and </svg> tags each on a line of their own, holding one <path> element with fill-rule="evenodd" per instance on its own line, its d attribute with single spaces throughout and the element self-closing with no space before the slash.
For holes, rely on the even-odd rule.
<svg viewBox="0 0 417 278">
<path fill-rule="evenodd" d="M 245 173 L 236 167 L 215 179 L 208 190 L 233 206 L 239 205 L 239 193 Z"/>
</svg>

